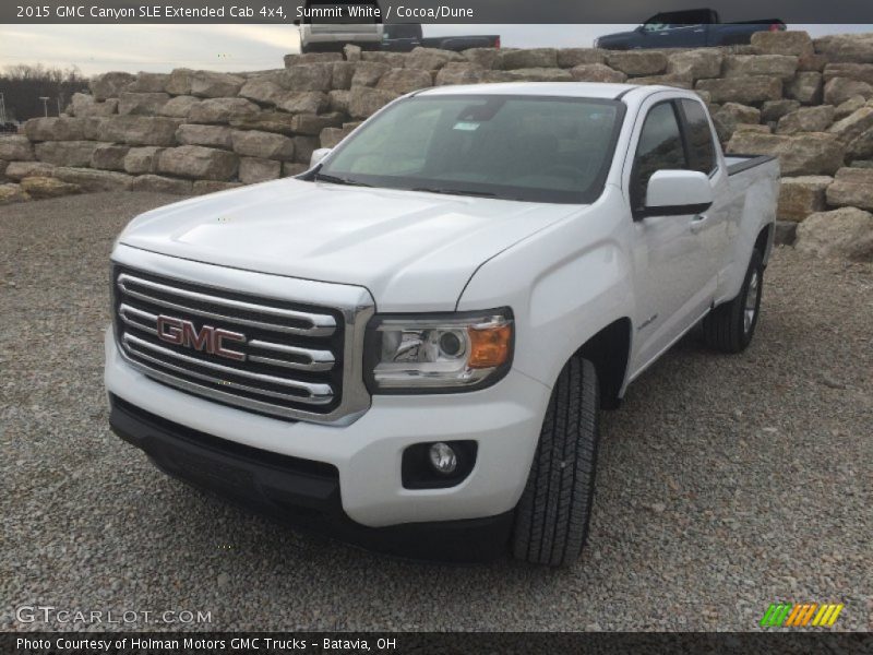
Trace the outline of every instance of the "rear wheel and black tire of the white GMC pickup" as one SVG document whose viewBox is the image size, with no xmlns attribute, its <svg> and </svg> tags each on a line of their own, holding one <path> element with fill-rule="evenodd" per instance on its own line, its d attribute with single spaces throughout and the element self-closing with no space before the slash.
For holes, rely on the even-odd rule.
<svg viewBox="0 0 873 655">
<path fill-rule="evenodd" d="M 752 342 L 761 313 L 764 288 L 764 263 L 761 252 L 752 251 L 740 293 L 730 302 L 719 305 L 703 320 L 703 338 L 707 346 L 722 353 L 742 353 Z M 751 318 L 749 310 L 752 310 Z"/>
</svg>

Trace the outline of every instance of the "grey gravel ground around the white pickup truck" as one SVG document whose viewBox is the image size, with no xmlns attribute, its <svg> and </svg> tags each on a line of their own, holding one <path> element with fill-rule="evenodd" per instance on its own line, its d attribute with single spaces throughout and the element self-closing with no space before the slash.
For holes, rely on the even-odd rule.
<svg viewBox="0 0 873 655">
<path fill-rule="evenodd" d="M 110 433 L 107 258 L 172 200 L 0 207 L 0 629 L 44 629 L 14 608 L 49 605 L 208 611 L 213 630 L 750 630 L 787 600 L 873 630 L 870 265 L 780 249 L 745 354 L 690 336 L 631 386 L 577 565 L 442 567 L 249 515 Z"/>
</svg>

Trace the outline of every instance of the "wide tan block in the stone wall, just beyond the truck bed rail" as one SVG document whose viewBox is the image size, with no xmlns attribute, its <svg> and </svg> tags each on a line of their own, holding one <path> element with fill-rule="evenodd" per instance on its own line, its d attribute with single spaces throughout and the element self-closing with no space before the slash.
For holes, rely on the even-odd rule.
<svg viewBox="0 0 873 655">
<path fill-rule="evenodd" d="M 727 152 L 777 156 L 785 176 L 834 175 L 842 166 L 846 146 L 833 134 L 763 134 L 742 130 L 734 132 Z"/>
</svg>

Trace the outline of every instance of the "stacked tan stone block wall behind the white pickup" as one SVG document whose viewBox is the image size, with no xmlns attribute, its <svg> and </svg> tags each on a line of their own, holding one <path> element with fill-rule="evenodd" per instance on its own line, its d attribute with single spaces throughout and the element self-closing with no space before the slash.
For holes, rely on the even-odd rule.
<svg viewBox="0 0 873 655">
<path fill-rule="evenodd" d="M 314 148 L 404 93 L 505 81 L 693 88 L 728 153 L 779 156 L 780 239 L 792 241 L 800 224 L 802 248 L 873 257 L 873 34 L 760 33 L 751 46 L 626 52 L 347 47 L 247 74 L 106 73 L 65 116 L 0 138 L 0 203 L 116 189 L 206 193 L 296 175 Z"/>
</svg>

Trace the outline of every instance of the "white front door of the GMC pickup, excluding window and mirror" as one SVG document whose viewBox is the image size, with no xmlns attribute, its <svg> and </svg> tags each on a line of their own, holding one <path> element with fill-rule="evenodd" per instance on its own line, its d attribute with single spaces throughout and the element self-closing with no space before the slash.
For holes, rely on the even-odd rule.
<svg viewBox="0 0 873 655">
<path fill-rule="evenodd" d="M 714 293 L 705 247 L 707 216 L 646 215 L 646 188 L 658 170 L 691 169 L 679 100 L 647 100 L 633 143 L 627 191 L 633 222 L 636 309 L 634 370 L 642 370 L 693 325 Z M 706 228 L 708 229 L 708 228 Z"/>
</svg>

